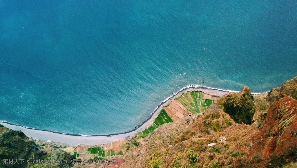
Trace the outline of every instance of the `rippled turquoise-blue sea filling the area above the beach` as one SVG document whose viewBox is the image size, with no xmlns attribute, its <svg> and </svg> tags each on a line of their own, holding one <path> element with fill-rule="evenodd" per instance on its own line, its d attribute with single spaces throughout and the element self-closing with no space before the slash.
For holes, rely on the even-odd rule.
<svg viewBox="0 0 297 168">
<path fill-rule="evenodd" d="M 297 75 L 294 1 L 0 1 L 0 120 L 135 129 L 187 84 L 265 92 Z M 201 82 L 204 81 L 204 83 Z"/>
</svg>

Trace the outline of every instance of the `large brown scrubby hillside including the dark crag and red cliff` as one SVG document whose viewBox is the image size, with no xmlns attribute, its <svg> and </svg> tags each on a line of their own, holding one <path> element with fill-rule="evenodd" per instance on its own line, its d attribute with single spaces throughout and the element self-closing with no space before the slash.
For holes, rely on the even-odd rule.
<svg viewBox="0 0 297 168">
<path fill-rule="evenodd" d="M 271 91 L 267 97 L 255 99 L 243 87 L 240 93 L 220 97 L 202 116 L 164 124 L 138 139 L 140 146 L 130 145 L 122 167 L 294 167 L 296 82 L 295 77 L 274 89 L 277 94 Z M 255 111 L 261 121 L 253 123 Z M 220 142 L 222 137 L 226 142 Z M 208 146 L 210 143 L 216 145 Z"/>
</svg>

